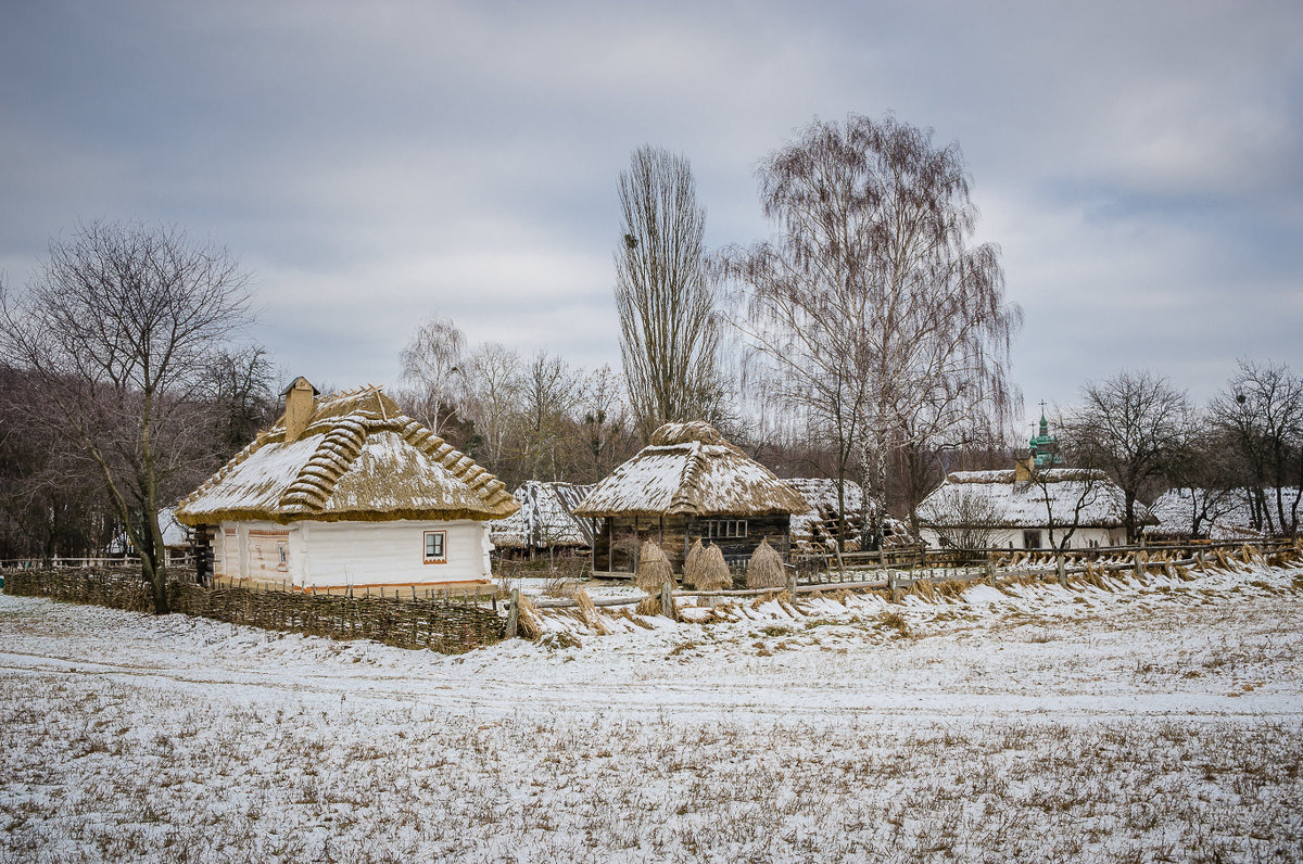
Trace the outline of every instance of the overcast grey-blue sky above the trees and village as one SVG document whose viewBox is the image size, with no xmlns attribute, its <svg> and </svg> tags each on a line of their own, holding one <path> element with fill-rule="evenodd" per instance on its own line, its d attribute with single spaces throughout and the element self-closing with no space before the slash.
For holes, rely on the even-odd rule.
<svg viewBox="0 0 1303 864">
<path fill-rule="evenodd" d="M 904 8 L 908 7 L 908 8 Z M 958 139 L 1025 311 L 1028 414 L 1124 366 L 1303 371 L 1303 4 L 0 5 L 0 271 L 94 218 L 254 274 L 291 374 L 394 383 L 416 323 L 619 367 L 615 184 L 692 160 L 711 246 L 814 117 Z"/>
</svg>

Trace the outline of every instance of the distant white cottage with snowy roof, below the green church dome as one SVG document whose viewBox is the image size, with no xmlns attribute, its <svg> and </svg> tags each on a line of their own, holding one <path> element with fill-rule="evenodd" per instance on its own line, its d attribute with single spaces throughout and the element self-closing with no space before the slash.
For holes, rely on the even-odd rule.
<svg viewBox="0 0 1303 864">
<path fill-rule="evenodd" d="M 1126 543 L 1122 490 L 1104 472 L 1023 464 L 1011 470 L 954 472 L 919 506 L 920 533 L 932 546 L 1067 549 Z M 1157 520 L 1135 504 L 1140 524 Z M 1053 536 L 1052 536 L 1053 534 Z"/>
</svg>

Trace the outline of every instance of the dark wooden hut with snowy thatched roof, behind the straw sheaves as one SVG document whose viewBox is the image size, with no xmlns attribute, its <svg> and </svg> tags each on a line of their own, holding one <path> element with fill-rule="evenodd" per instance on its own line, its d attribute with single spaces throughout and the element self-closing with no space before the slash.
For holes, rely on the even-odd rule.
<svg viewBox="0 0 1303 864">
<path fill-rule="evenodd" d="M 704 422 L 666 424 L 652 443 L 602 480 L 575 508 L 601 519 L 593 572 L 628 576 L 637 550 L 655 541 L 675 572 L 693 540 L 719 546 L 744 566 L 765 540 L 783 556 L 791 516 L 807 504 L 767 468 L 747 457 Z"/>
</svg>

